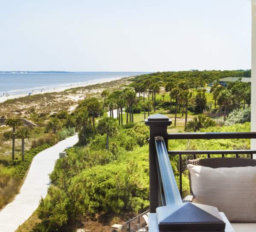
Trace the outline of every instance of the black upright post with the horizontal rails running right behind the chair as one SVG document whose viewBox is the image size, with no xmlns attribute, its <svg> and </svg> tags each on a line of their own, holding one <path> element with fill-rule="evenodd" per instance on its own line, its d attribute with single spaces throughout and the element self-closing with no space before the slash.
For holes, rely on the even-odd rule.
<svg viewBox="0 0 256 232">
<path fill-rule="evenodd" d="M 148 117 L 145 124 L 150 127 L 149 140 L 149 166 L 150 166 L 150 213 L 155 213 L 156 208 L 162 206 L 161 193 L 163 186 L 159 184 L 159 161 L 157 159 L 155 137 L 162 137 L 165 146 L 168 147 L 168 140 L 191 140 L 191 139 L 256 139 L 256 132 L 210 132 L 210 133 L 167 133 L 167 127 L 171 120 L 164 115 L 156 114 Z M 191 159 L 198 158 L 198 155 L 247 155 L 253 158 L 256 150 L 234 150 L 234 151 L 168 151 L 169 155 L 179 155 L 179 192 L 182 193 L 182 155 L 191 155 Z"/>
</svg>

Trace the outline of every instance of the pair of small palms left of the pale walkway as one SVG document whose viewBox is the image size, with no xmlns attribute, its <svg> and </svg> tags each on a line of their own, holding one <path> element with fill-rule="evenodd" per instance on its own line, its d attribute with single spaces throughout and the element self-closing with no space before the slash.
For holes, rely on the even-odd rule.
<svg viewBox="0 0 256 232">
<path fill-rule="evenodd" d="M 16 137 L 21 139 L 21 152 L 22 161 L 24 161 L 25 153 L 25 139 L 29 139 L 31 136 L 31 131 L 28 127 L 23 126 L 23 121 L 18 118 L 9 118 L 6 120 L 6 125 L 12 128 L 11 133 L 5 134 L 6 139 L 12 138 L 12 160 L 15 159 L 15 139 Z"/>
</svg>

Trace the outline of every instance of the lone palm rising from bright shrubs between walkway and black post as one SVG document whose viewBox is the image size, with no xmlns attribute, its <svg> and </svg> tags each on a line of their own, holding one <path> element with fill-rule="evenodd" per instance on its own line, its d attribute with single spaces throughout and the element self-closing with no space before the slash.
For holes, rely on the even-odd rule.
<svg viewBox="0 0 256 232">
<path fill-rule="evenodd" d="M 101 118 L 98 122 L 98 131 L 100 134 L 106 134 L 106 149 L 109 150 L 109 137 L 118 132 L 115 120 L 111 117 Z"/>
</svg>

